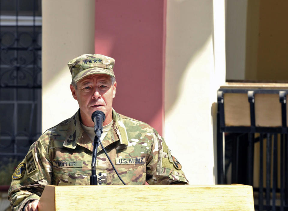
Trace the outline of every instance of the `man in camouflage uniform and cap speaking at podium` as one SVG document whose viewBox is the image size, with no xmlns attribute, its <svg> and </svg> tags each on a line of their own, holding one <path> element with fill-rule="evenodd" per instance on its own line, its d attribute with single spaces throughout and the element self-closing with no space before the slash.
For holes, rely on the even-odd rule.
<svg viewBox="0 0 288 211">
<path fill-rule="evenodd" d="M 37 210 L 46 185 L 90 184 L 95 135 L 91 114 L 96 110 L 106 116 L 101 142 L 126 184 L 188 183 L 181 165 L 154 128 L 112 108 L 116 93 L 114 62 L 104 55 L 85 54 L 68 63 L 70 89 L 79 110 L 44 132 L 16 168 L 8 195 L 13 210 Z M 101 146 L 96 174 L 98 185 L 122 184 Z"/>
</svg>

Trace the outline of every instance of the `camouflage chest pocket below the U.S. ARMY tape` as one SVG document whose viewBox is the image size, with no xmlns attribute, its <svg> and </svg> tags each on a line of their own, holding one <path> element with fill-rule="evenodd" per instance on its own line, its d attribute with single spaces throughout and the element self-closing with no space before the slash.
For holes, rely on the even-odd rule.
<svg viewBox="0 0 288 211">
<path fill-rule="evenodd" d="M 133 165 L 134 166 L 134 165 Z M 122 167 L 122 168 L 121 168 Z M 146 165 L 134 166 L 134 168 L 129 168 L 129 165 L 125 165 L 126 168 L 123 168 L 124 165 L 116 166 L 118 174 L 122 180 L 127 185 L 144 185 L 146 181 Z M 132 167 L 132 165 L 131 165 Z M 112 185 L 122 185 L 123 183 L 118 178 L 117 174 L 113 172 L 110 174 Z"/>
</svg>

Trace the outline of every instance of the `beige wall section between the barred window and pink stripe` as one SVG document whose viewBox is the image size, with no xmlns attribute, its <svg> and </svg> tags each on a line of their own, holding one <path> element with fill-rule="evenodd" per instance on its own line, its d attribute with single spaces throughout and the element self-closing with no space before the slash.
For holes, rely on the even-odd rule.
<svg viewBox="0 0 288 211">
<path fill-rule="evenodd" d="M 95 1 L 42 1 L 42 131 L 78 109 L 67 62 L 94 53 Z"/>
</svg>

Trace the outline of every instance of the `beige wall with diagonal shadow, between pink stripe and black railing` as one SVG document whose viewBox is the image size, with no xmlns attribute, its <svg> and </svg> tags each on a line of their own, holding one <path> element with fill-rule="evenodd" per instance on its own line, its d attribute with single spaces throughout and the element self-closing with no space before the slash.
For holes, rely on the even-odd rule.
<svg viewBox="0 0 288 211">
<path fill-rule="evenodd" d="M 191 184 L 214 184 L 216 95 L 225 82 L 224 1 L 167 1 L 164 138 Z"/>
</svg>

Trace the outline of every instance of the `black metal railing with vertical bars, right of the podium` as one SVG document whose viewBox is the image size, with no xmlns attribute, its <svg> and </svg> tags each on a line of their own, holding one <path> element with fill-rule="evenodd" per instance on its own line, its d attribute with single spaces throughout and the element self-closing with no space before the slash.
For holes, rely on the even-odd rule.
<svg viewBox="0 0 288 211">
<path fill-rule="evenodd" d="M 250 126 L 225 124 L 226 93 L 247 94 Z M 281 104 L 282 125 L 267 127 L 255 124 L 255 94 L 279 95 L 277 103 Z M 220 88 L 217 92 L 217 183 L 253 186 L 256 210 L 288 210 L 287 94 L 288 89 L 257 88 Z"/>
</svg>

